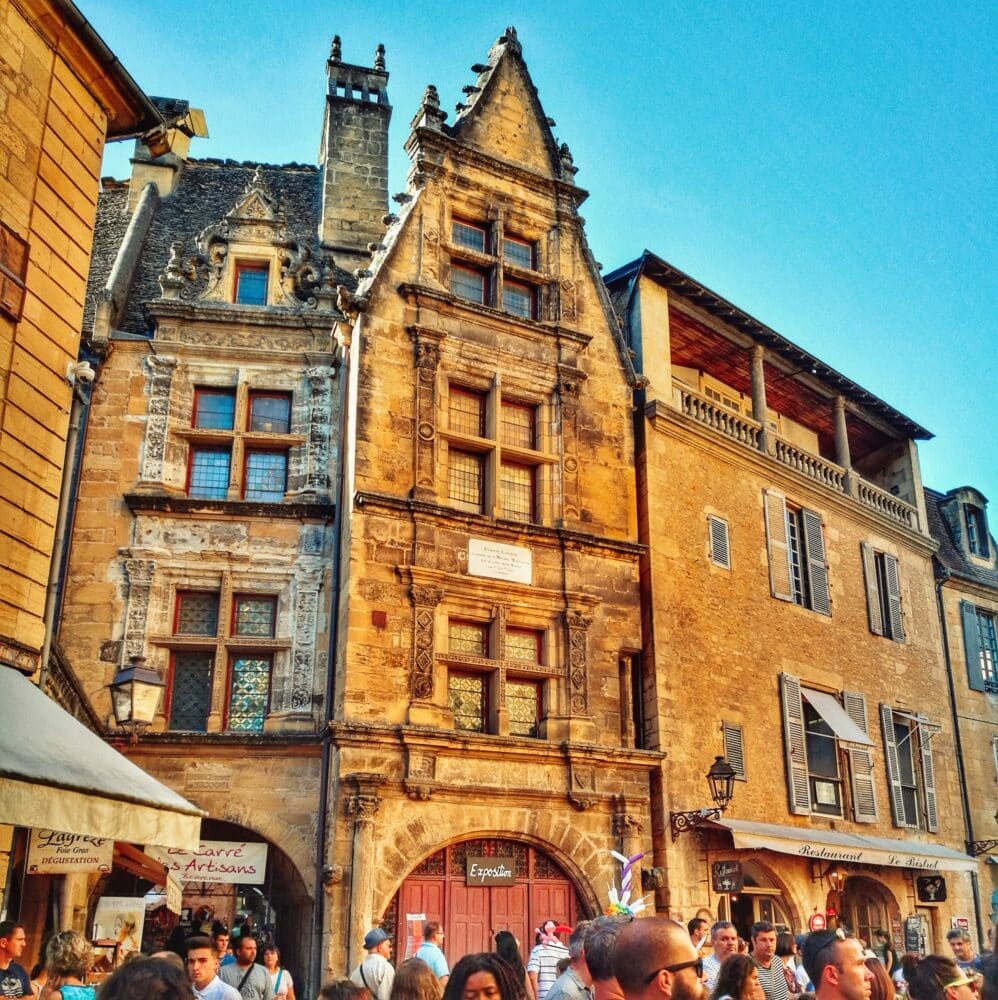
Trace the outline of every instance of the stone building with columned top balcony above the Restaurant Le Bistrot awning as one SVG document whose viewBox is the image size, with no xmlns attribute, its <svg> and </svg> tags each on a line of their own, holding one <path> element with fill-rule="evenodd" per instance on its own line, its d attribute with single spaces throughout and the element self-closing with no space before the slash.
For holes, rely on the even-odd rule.
<svg viewBox="0 0 998 1000">
<path fill-rule="evenodd" d="M 634 711 L 657 713 L 671 750 L 659 905 L 743 935 L 820 913 L 942 950 L 951 917 L 974 914 L 976 865 L 916 450 L 928 433 L 653 254 L 607 284 L 648 379 L 633 691 L 657 688 Z M 736 771 L 729 807 L 680 815 L 713 805 L 718 754 Z"/>
</svg>

